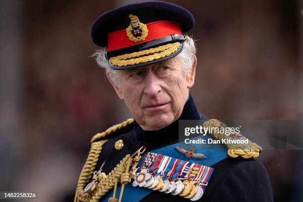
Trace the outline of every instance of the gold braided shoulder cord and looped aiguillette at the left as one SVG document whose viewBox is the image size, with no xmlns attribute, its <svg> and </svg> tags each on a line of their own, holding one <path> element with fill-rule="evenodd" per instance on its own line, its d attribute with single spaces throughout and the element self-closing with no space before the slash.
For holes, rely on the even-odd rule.
<svg viewBox="0 0 303 202">
<path fill-rule="evenodd" d="M 102 133 L 96 134 L 92 140 L 91 140 L 91 150 L 88 154 L 88 157 L 86 159 L 86 162 L 81 170 L 75 199 L 74 202 L 98 202 L 102 196 L 104 196 L 109 190 L 111 190 L 114 187 L 115 184 L 115 177 L 114 174 L 116 174 L 116 177 L 120 177 L 123 172 L 126 170 L 126 167 L 128 167 L 130 161 L 132 160 L 132 156 L 130 154 L 127 154 L 117 165 L 116 167 L 108 173 L 105 177 L 101 175 L 99 177 L 99 183 L 96 187 L 96 189 L 90 193 L 90 195 L 86 197 L 82 197 L 84 193 L 85 186 L 89 183 L 90 179 L 92 178 L 92 175 L 94 173 L 94 170 L 96 168 L 96 164 L 98 162 L 99 156 L 101 154 L 102 146 L 108 142 L 107 140 L 101 140 L 98 142 L 94 142 L 95 140 L 105 137 L 109 135 L 112 132 L 115 132 L 116 130 L 119 130 L 123 127 L 126 127 L 127 125 L 134 122 L 134 119 L 127 119 L 126 121 L 114 125 L 110 128 L 108 128 L 106 131 Z M 124 174 L 125 175 L 125 174 Z M 123 176 L 124 176 L 123 175 Z M 125 176 L 123 177 L 123 179 Z M 122 179 L 121 179 L 122 180 Z"/>
</svg>

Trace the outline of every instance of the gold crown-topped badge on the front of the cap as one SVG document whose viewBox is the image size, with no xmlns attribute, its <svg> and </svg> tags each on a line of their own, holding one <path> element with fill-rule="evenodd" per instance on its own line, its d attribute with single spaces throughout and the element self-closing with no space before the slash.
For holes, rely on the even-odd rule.
<svg viewBox="0 0 303 202">
<path fill-rule="evenodd" d="M 146 24 L 141 23 L 136 15 L 130 14 L 129 18 L 131 23 L 126 28 L 126 34 L 129 40 L 133 42 L 144 41 L 149 35 L 149 30 Z"/>
</svg>

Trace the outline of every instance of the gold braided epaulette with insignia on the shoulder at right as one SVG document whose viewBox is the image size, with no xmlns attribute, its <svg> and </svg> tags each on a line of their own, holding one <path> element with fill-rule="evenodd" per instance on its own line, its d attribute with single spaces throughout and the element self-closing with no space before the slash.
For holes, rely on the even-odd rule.
<svg viewBox="0 0 303 202">
<path fill-rule="evenodd" d="M 209 128 L 226 128 L 226 124 L 223 122 L 220 122 L 217 119 L 210 119 L 208 121 L 205 121 L 203 123 L 203 127 L 209 127 Z M 215 132 L 217 130 L 214 130 Z M 218 130 L 219 131 L 219 130 Z M 226 135 L 224 133 L 212 133 L 212 135 L 218 139 L 222 140 L 226 138 Z M 259 156 L 259 152 L 262 151 L 262 148 L 258 146 L 255 143 L 252 143 L 252 141 L 248 141 L 248 145 L 244 146 L 241 144 L 225 144 L 228 148 L 227 154 L 232 157 L 236 158 L 238 156 L 241 156 L 243 158 L 256 158 Z"/>
</svg>

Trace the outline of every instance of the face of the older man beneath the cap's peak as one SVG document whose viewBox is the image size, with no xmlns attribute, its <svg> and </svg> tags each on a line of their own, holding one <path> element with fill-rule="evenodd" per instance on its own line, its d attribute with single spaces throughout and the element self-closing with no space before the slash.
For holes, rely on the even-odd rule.
<svg viewBox="0 0 303 202">
<path fill-rule="evenodd" d="M 173 57 L 142 67 L 118 70 L 120 85 L 111 83 L 144 130 L 159 130 L 180 117 L 189 88 L 194 84 L 195 67 L 192 74 L 186 75 L 180 59 Z"/>
</svg>

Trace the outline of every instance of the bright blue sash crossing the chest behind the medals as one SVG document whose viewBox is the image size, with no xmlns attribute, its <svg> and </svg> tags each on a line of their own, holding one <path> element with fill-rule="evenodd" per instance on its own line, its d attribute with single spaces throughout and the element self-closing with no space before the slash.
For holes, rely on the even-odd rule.
<svg viewBox="0 0 303 202">
<path fill-rule="evenodd" d="M 206 139 L 206 140 L 208 138 L 213 139 L 212 136 L 207 134 L 206 136 L 199 136 L 199 137 L 193 138 L 191 140 L 195 140 L 198 138 L 202 138 L 202 139 Z M 196 147 L 197 148 L 196 152 L 203 153 L 204 155 L 206 155 L 207 159 L 203 159 L 203 160 L 192 159 L 192 158 L 189 159 L 189 158 L 185 157 L 185 155 L 183 155 L 179 152 L 176 152 L 174 150 L 174 148 L 180 147 L 179 143 L 169 145 L 169 146 L 166 146 L 166 147 L 163 147 L 160 149 L 152 150 L 150 152 L 159 153 L 162 155 L 170 156 L 173 158 L 178 158 L 181 160 L 186 160 L 191 163 L 197 163 L 197 164 L 205 165 L 208 167 L 227 158 L 227 152 L 226 152 L 226 148 L 224 145 L 215 145 L 214 148 L 212 148 L 212 149 L 200 149 L 199 146 L 197 147 L 196 145 L 186 145 L 187 148 L 185 148 L 185 149 L 188 149 L 188 147 L 190 147 L 190 146 Z M 146 156 L 146 154 L 142 156 L 138 167 L 141 167 L 145 156 Z M 116 198 L 119 198 L 120 190 L 121 190 L 121 184 L 119 183 L 117 186 Z M 132 184 L 129 183 L 127 186 L 124 187 L 122 202 L 139 202 L 140 200 L 142 200 L 144 197 L 151 194 L 152 192 L 153 192 L 153 190 L 151 190 L 151 189 L 139 187 L 139 186 L 133 187 Z M 113 189 L 111 189 L 104 197 L 101 198 L 101 202 L 108 202 L 108 199 L 110 197 L 112 197 L 112 194 L 113 194 Z"/>
</svg>

